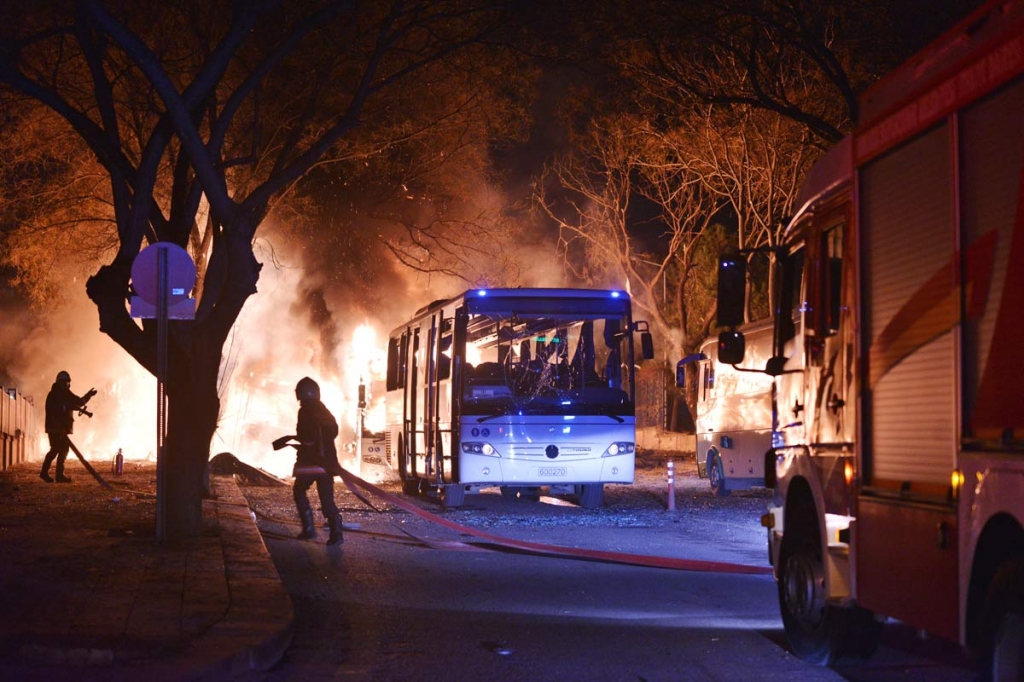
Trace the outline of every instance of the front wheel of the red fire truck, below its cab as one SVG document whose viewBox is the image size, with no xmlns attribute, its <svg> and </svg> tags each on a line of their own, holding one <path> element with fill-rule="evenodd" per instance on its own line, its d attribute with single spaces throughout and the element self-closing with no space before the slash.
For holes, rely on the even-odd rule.
<svg viewBox="0 0 1024 682">
<path fill-rule="evenodd" d="M 878 647 L 882 623 L 858 606 L 829 605 L 824 570 L 816 543 L 783 539 L 778 601 L 786 639 L 798 656 L 818 666 L 866 658 Z"/>
</svg>

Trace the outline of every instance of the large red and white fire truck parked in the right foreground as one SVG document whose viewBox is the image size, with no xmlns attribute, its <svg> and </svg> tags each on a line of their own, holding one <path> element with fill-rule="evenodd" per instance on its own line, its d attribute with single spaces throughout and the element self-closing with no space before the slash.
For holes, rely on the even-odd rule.
<svg viewBox="0 0 1024 682">
<path fill-rule="evenodd" d="M 865 92 L 775 253 L 762 522 L 806 659 L 892 617 L 1024 679 L 1022 74 L 1024 1 L 989 2 Z M 727 327 L 719 359 L 743 346 Z"/>
</svg>

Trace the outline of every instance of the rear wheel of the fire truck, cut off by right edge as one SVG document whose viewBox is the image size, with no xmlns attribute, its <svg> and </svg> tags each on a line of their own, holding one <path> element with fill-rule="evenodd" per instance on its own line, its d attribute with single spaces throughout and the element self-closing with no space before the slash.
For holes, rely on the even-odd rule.
<svg viewBox="0 0 1024 682">
<path fill-rule="evenodd" d="M 985 606 L 984 679 L 1024 679 L 1024 559 L 1002 564 L 992 579 Z"/>
</svg>

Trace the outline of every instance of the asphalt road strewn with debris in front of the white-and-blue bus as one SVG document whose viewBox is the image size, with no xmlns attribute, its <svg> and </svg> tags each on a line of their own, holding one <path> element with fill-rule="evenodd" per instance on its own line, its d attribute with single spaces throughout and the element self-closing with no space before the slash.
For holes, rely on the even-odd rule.
<svg viewBox="0 0 1024 682">
<path fill-rule="evenodd" d="M 642 488 L 600 511 L 470 498 L 449 520 L 562 546 L 766 564 L 757 494 L 716 500 L 683 482 L 680 509 Z M 257 509 L 286 513 L 290 491 Z M 292 647 L 267 681 L 343 680 L 929 680 L 975 675 L 958 649 L 887 627 L 878 654 L 837 670 L 792 655 L 770 576 L 670 570 L 482 548 L 410 514 L 366 511 L 341 495 L 341 548 L 290 539 L 285 516 L 261 517 L 296 608 Z M 649 502 L 649 501 L 648 501 Z M 263 512 L 266 513 L 266 512 Z M 273 513 L 270 513 L 273 516 Z"/>
</svg>

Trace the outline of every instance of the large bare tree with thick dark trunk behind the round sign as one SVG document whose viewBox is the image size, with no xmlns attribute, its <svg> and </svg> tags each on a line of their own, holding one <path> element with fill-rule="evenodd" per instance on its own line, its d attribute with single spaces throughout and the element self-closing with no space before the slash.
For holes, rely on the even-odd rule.
<svg viewBox="0 0 1024 682">
<path fill-rule="evenodd" d="M 224 341 L 259 279 L 258 227 L 326 157 L 394 140 L 402 88 L 479 44 L 501 7 L 14 4 L 0 11 L 0 82 L 59 115 L 109 184 L 116 252 L 87 284 L 100 331 L 154 371 L 155 330 L 126 305 L 132 261 L 171 242 L 206 262 L 196 319 L 172 325 L 167 382 L 166 531 L 195 536 Z"/>
</svg>

